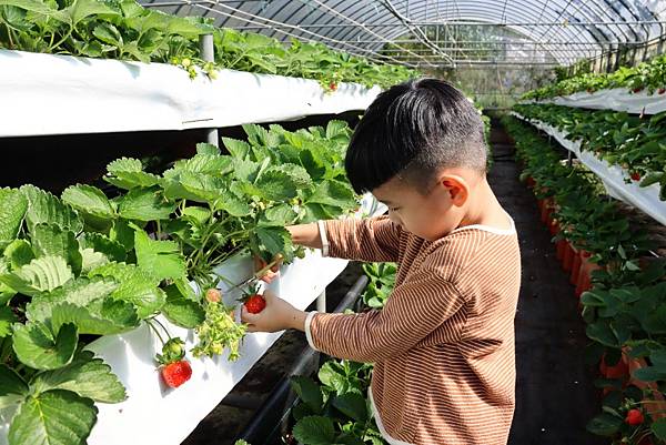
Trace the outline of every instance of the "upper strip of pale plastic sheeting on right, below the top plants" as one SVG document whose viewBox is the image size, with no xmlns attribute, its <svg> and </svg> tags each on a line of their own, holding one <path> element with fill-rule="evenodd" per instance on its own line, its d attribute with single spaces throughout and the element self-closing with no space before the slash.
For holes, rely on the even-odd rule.
<svg viewBox="0 0 666 445">
<path fill-rule="evenodd" d="M 628 113 L 656 114 L 666 111 L 666 93 L 655 91 L 648 94 L 646 90 L 633 93 L 625 88 L 601 90 L 594 93 L 585 91 L 549 100 L 525 101 L 523 103 L 554 103 L 572 108 L 588 108 L 593 110 L 615 110 Z"/>
</svg>

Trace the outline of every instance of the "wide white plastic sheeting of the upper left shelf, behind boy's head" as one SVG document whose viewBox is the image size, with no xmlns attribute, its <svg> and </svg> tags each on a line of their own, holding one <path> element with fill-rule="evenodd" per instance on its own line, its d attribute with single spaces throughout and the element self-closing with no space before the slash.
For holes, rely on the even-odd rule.
<svg viewBox="0 0 666 445">
<path fill-rule="evenodd" d="M 222 128 L 365 110 L 381 91 L 222 70 L 0 50 L 0 138 Z"/>
</svg>

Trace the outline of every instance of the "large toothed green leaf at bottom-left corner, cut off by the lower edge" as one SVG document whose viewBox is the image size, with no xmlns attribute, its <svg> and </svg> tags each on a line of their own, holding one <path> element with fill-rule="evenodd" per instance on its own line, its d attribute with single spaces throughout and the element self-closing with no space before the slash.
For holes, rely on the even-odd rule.
<svg viewBox="0 0 666 445">
<path fill-rule="evenodd" d="M 29 397 L 9 427 L 9 445 L 85 444 L 97 422 L 90 398 L 53 390 Z"/>
</svg>

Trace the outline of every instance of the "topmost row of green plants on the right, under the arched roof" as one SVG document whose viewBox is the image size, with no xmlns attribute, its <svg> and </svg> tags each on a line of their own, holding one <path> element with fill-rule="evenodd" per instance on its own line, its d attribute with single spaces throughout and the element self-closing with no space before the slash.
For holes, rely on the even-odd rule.
<svg viewBox="0 0 666 445">
<path fill-rule="evenodd" d="M 587 72 L 569 79 L 559 80 L 537 90 L 528 91 L 523 99 L 549 99 L 558 95 L 569 95 L 576 92 L 623 88 L 632 93 L 646 90 L 649 94 L 666 93 L 666 55 L 642 62 L 636 67 L 622 67 L 613 73 Z"/>
</svg>

